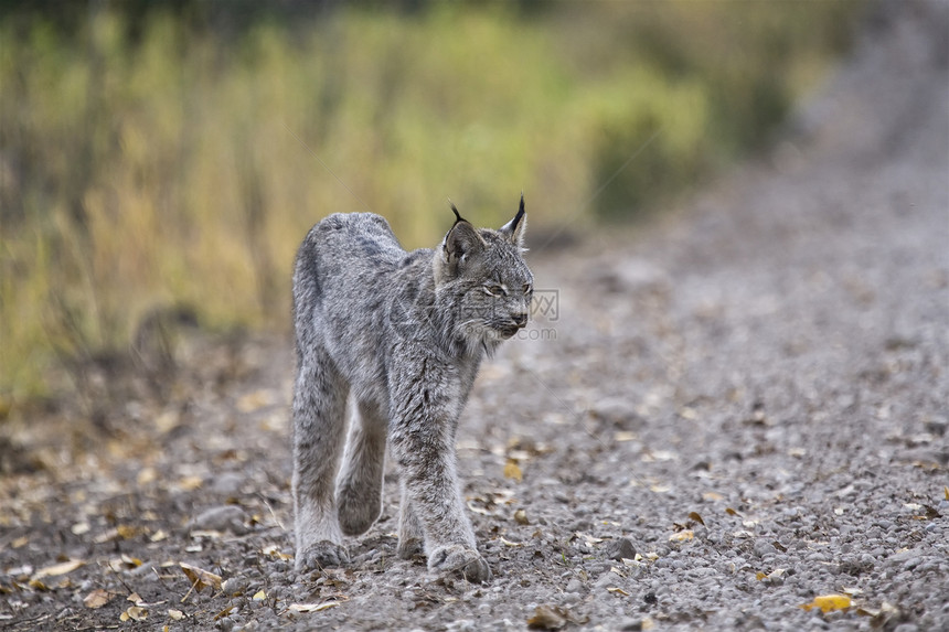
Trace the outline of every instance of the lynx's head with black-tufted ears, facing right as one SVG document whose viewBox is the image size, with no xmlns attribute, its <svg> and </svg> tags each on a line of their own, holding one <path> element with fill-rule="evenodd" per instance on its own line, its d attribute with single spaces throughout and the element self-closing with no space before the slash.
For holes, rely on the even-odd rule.
<svg viewBox="0 0 949 632">
<path fill-rule="evenodd" d="M 476 228 L 455 212 L 455 225 L 435 254 L 436 293 L 450 302 L 452 333 L 469 351 L 489 354 L 527 324 L 534 277 L 523 257 L 524 195 L 514 218 L 494 231 Z"/>
</svg>

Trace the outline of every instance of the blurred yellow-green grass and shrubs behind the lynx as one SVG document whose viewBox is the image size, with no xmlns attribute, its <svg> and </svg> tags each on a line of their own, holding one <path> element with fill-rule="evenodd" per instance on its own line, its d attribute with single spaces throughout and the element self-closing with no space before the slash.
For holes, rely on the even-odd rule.
<svg viewBox="0 0 949 632">
<path fill-rule="evenodd" d="M 3 0 L 0 399 L 164 313 L 286 329 L 332 212 L 419 247 L 449 195 L 500 225 L 523 190 L 542 229 L 657 207 L 765 142 L 859 8 Z"/>
</svg>

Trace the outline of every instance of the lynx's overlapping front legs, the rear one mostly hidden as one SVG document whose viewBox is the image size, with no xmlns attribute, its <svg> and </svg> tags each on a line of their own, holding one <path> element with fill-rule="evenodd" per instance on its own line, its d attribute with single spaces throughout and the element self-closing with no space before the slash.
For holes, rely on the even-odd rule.
<svg viewBox="0 0 949 632">
<path fill-rule="evenodd" d="M 390 435 L 404 485 L 399 553 L 410 555 L 410 539 L 420 526 L 429 570 L 458 571 L 470 581 L 487 581 L 491 569 L 478 553 L 458 485 L 459 381 L 430 361 L 406 364 L 407 374 L 394 381 Z"/>
</svg>

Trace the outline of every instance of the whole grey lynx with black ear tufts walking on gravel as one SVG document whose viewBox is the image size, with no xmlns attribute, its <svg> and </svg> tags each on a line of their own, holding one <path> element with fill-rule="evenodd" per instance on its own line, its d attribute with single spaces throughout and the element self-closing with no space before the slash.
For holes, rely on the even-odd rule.
<svg viewBox="0 0 949 632">
<path fill-rule="evenodd" d="M 424 551 L 430 571 L 491 578 L 466 515 L 455 436 L 482 358 L 527 322 L 533 276 L 523 194 L 497 231 L 451 210 L 435 250 L 407 253 L 384 218 L 352 213 L 322 219 L 297 254 L 298 570 L 349 561 L 343 536 L 365 533 L 382 512 L 388 443 L 402 494 L 398 556 Z"/>
</svg>

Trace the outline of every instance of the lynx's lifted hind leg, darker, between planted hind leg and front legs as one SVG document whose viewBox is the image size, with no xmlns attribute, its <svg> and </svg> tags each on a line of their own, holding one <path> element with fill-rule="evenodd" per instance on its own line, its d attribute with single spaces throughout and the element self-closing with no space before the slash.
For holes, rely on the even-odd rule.
<svg viewBox="0 0 949 632">
<path fill-rule="evenodd" d="M 388 420 L 380 407 L 358 401 L 337 482 L 340 526 L 345 535 L 369 531 L 382 513 L 382 479 Z"/>
</svg>

